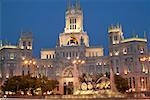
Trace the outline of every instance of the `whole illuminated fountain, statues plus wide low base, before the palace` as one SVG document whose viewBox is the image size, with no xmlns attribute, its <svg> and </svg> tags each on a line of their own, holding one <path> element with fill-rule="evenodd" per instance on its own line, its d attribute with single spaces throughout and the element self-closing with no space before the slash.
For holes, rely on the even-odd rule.
<svg viewBox="0 0 150 100">
<path fill-rule="evenodd" d="M 123 94 L 113 91 L 111 81 L 106 75 L 98 78 L 96 81 L 86 74 L 80 82 L 80 89 L 75 91 L 75 95 L 95 95 L 99 98 L 124 97 Z"/>
</svg>

